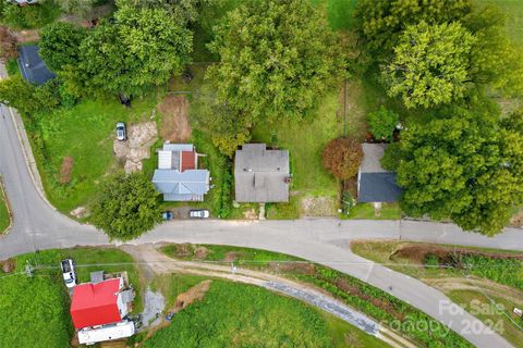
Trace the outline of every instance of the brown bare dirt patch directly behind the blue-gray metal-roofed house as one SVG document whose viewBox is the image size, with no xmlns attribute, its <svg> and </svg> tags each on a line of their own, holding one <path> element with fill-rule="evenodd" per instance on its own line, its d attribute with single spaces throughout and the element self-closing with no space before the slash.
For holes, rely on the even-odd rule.
<svg viewBox="0 0 523 348">
<path fill-rule="evenodd" d="M 160 127 L 163 140 L 185 142 L 191 138 L 188 100 L 185 96 L 167 96 L 158 110 L 163 114 Z"/>
</svg>

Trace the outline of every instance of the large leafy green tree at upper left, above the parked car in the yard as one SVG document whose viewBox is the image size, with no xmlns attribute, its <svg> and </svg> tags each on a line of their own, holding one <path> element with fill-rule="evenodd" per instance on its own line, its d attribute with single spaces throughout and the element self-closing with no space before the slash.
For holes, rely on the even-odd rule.
<svg viewBox="0 0 523 348">
<path fill-rule="evenodd" d="M 192 33 L 163 8 L 117 1 L 115 24 L 102 23 L 81 46 L 90 90 L 141 95 L 168 82 L 190 62 Z"/>
</svg>

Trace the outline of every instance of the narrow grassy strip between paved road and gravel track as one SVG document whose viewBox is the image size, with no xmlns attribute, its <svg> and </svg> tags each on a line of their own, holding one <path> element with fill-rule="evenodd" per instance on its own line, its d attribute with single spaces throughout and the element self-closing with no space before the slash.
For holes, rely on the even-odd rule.
<svg viewBox="0 0 523 348">
<path fill-rule="evenodd" d="M 199 250 L 198 254 L 196 254 L 195 248 L 198 247 L 205 248 L 206 252 Z M 231 260 L 233 260 L 241 268 L 276 273 L 293 281 L 313 284 L 386 326 L 392 322 L 397 323 L 398 320 L 402 323 L 430 321 L 431 325 L 435 325 L 431 335 L 417 331 L 414 327 L 415 325 L 394 325 L 394 327 L 399 326 L 401 335 L 410 338 L 417 346 L 470 347 L 461 336 L 453 332 L 449 332 L 447 335 L 441 324 L 388 293 L 341 272 L 309 263 L 292 256 L 258 249 L 214 245 L 171 245 L 163 247 L 161 251 L 171 258 L 184 260 L 222 261 L 226 264 L 230 264 Z M 288 263 L 285 261 L 299 262 Z"/>
</svg>

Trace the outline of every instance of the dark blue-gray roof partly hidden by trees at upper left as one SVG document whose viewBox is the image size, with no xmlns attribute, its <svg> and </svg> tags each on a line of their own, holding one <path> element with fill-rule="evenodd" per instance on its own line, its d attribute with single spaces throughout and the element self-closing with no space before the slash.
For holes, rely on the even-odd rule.
<svg viewBox="0 0 523 348">
<path fill-rule="evenodd" d="M 36 45 L 24 45 L 19 48 L 17 63 L 22 77 L 35 85 L 44 85 L 57 76 L 47 69 L 46 63 L 38 54 L 39 50 Z"/>
</svg>

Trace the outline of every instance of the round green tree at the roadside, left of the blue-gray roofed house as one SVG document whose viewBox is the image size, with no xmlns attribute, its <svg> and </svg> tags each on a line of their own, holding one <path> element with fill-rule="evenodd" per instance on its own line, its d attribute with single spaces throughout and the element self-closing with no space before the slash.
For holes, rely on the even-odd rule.
<svg viewBox="0 0 523 348">
<path fill-rule="evenodd" d="M 101 187 L 92 221 L 111 239 L 130 240 L 161 220 L 158 192 L 142 173 L 119 173 Z"/>
</svg>

